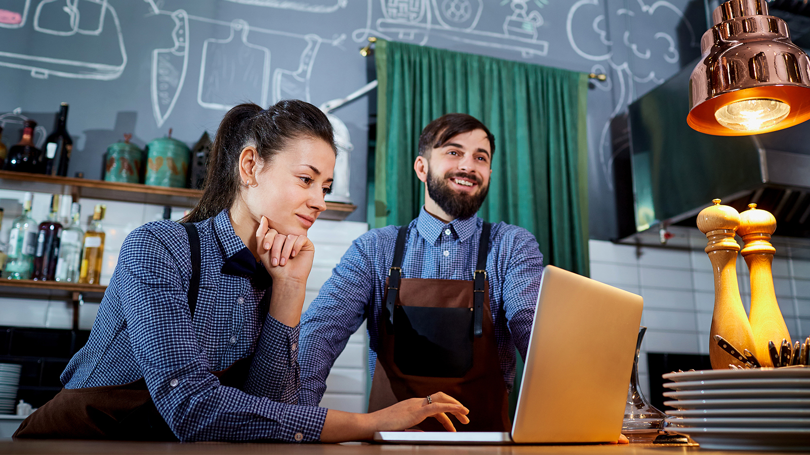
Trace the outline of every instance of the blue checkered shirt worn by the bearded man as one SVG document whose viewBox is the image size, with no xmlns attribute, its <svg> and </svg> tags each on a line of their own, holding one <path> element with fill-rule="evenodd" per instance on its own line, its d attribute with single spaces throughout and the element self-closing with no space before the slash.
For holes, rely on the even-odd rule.
<svg viewBox="0 0 810 455">
<path fill-rule="evenodd" d="M 444 223 L 422 207 L 409 225 L 403 278 L 471 280 L 483 224 L 477 216 Z M 383 295 L 397 231 L 396 226 L 386 226 L 355 240 L 301 318 L 301 404 L 317 406 L 321 401 L 329 370 L 363 321 L 368 321 L 369 369 L 374 375 Z M 511 391 L 515 347 L 526 356 L 543 255 L 531 232 L 511 224 L 493 223 L 489 239 L 489 306 L 501 371 Z"/>
</svg>

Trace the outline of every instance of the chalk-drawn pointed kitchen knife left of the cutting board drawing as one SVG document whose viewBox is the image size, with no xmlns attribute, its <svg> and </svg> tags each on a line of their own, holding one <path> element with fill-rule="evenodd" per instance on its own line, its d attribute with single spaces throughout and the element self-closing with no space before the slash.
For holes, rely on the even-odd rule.
<svg viewBox="0 0 810 455">
<path fill-rule="evenodd" d="M 152 51 L 151 101 L 158 128 L 172 115 L 189 68 L 189 15 L 177 10 L 171 18 L 174 46 Z"/>
</svg>

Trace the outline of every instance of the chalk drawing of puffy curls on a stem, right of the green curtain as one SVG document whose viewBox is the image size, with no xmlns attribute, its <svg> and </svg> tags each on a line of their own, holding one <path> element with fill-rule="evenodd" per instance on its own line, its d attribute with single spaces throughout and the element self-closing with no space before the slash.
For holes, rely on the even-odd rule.
<svg viewBox="0 0 810 455">
<path fill-rule="evenodd" d="M 647 5 L 644 0 L 636 0 L 635 5 L 633 5 L 633 2 L 625 2 L 624 6 L 625 7 L 623 8 L 617 8 L 616 11 L 614 11 L 614 14 L 617 16 L 626 16 L 628 20 L 644 21 L 646 18 L 654 15 L 656 11 L 659 11 L 659 8 L 661 9 L 660 11 L 669 11 L 674 13 L 678 18 L 680 18 L 680 21 L 684 23 L 687 31 L 689 32 L 691 37 L 690 45 L 697 47 L 697 40 L 692 29 L 692 25 L 687 19 L 684 18 L 683 11 L 680 11 L 678 7 L 670 2 L 657 0 L 651 5 Z M 591 68 L 591 72 L 603 74 L 607 74 L 608 72 L 610 73 L 608 74 L 608 79 L 606 81 L 591 81 L 591 83 L 601 91 L 613 91 L 613 84 L 616 84 L 616 90 L 618 91 L 615 98 L 616 103 L 613 106 L 610 117 L 602 126 L 602 133 L 599 138 L 599 145 L 597 146 L 597 155 L 599 155 L 599 166 L 601 168 L 601 172 L 603 173 L 604 180 L 607 183 L 608 188 L 612 190 L 612 168 L 613 161 L 616 159 L 616 156 L 614 155 L 610 144 L 609 135 L 611 121 L 613 117 L 616 117 L 620 113 L 624 112 L 628 105 L 633 102 L 636 92 L 636 83 L 654 83 L 655 85 L 659 85 L 664 82 L 665 78 L 656 74 L 655 71 L 650 71 L 649 74 L 643 76 L 633 74 L 633 65 L 631 65 L 632 61 L 629 58 L 616 58 L 617 53 L 613 52 L 614 43 L 612 40 L 608 40 L 608 32 L 604 28 L 604 23 L 606 22 L 604 15 L 605 11 L 606 9 L 603 4 L 601 4 L 600 0 L 578 0 L 577 2 L 574 2 L 569 9 L 565 29 L 569 44 L 575 53 L 591 62 L 600 62 L 596 63 Z M 575 28 L 573 26 L 573 21 L 578 17 L 578 15 L 587 15 L 589 13 L 591 15 L 595 15 L 595 19 L 593 19 L 591 23 L 590 30 L 587 30 L 586 28 Z M 634 29 L 636 28 L 629 28 L 629 30 Z M 639 27 L 638 29 L 643 28 Z M 578 45 L 578 35 L 582 38 L 582 42 L 593 42 L 592 39 L 589 39 L 589 36 L 582 36 L 583 34 L 591 34 L 591 36 L 592 34 L 595 34 L 596 36 L 599 36 L 599 42 L 604 45 L 604 52 L 594 53 L 593 51 L 586 51 L 585 49 L 582 49 L 582 46 Z M 625 45 L 625 47 L 629 49 L 629 53 L 618 54 L 627 55 L 630 58 L 637 59 L 635 61 L 637 63 L 642 61 L 650 61 L 650 59 L 654 58 L 661 58 L 665 63 L 663 67 L 668 68 L 667 73 L 676 73 L 677 70 L 679 70 L 677 63 L 680 59 L 680 54 L 676 48 L 676 41 L 670 34 L 665 32 L 654 32 L 651 38 L 652 39 L 650 40 L 645 37 L 644 40 L 634 42 L 631 32 L 626 31 L 622 36 L 621 44 Z M 658 40 L 663 40 L 667 43 L 667 49 L 663 53 L 653 53 L 653 49 L 650 48 L 650 45 Z M 642 42 L 645 44 L 640 45 Z M 671 66 L 667 66 L 667 64 Z"/>
</svg>

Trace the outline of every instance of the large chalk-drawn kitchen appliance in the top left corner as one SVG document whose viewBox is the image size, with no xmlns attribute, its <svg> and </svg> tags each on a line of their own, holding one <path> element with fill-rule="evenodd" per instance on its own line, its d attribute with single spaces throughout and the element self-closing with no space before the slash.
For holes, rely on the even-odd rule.
<svg viewBox="0 0 810 455">
<path fill-rule="evenodd" d="M 53 45 L 39 45 L 37 49 L 58 49 L 59 57 L 48 55 L 28 55 L 2 50 L 5 40 L 0 40 L 0 66 L 17 68 L 31 72 L 37 79 L 58 76 L 69 79 L 118 79 L 126 68 L 126 48 L 121 30 L 121 22 L 112 5 L 107 0 L 62 0 L 64 8 L 49 8 L 52 2 L 43 0 L 36 8 L 36 32 L 53 36 Z M 57 17 L 43 17 L 57 15 Z M 86 19 L 82 19 L 86 18 Z M 54 19 L 54 20 L 51 20 Z M 61 23 L 61 29 L 43 28 L 38 23 Z M 86 27 L 84 24 L 87 23 Z M 63 40 L 75 41 L 75 45 L 65 46 Z M 66 55 L 62 49 L 70 49 Z M 93 62 L 99 56 L 120 55 L 118 62 Z M 86 59 L 86 60 L 85 60 Z"/>
</svg>

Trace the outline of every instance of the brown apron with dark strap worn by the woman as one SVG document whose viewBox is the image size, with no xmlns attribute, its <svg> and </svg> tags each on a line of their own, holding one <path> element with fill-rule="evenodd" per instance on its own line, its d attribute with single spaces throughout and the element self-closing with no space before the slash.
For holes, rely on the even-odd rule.
<svg viewBox="0 0 810 455">
<path fill-rule="evenodd" d="M 194 308 L 200 279 L 200 243 L 196 226 L 183 223 L 191 249 L 189 309 Z M 220 384 L 242 389 L 253 356 L 240 359 L 230 367 L 212 372 Z M 15 438 L 104 439 L 104 440 L 177 440 L 152 401 L 146 381 L 123 385 L 104 385 L 83 389 L 62 389 L 28 419 L 23 420 Z"/>
</svg>

